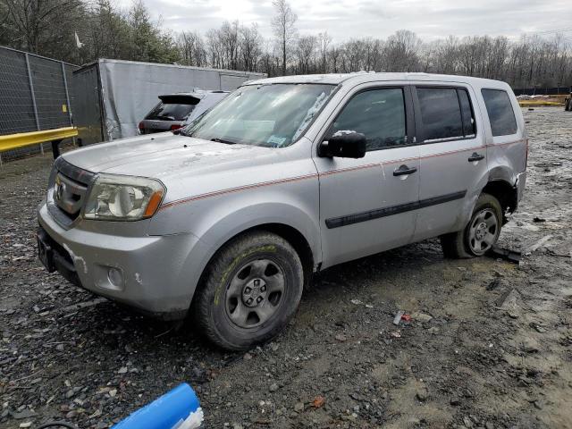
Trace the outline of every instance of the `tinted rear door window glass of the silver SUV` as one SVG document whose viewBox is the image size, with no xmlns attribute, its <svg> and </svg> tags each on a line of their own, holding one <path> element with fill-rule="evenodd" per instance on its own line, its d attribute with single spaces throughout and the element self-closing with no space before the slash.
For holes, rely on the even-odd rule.
<svg viewBox="0 0 572 429">
<path fill-rule="evenodd" d="M 425 141 L 463 138 L 463 118 L 455 88 L 416 88 Z"/>
</svg>

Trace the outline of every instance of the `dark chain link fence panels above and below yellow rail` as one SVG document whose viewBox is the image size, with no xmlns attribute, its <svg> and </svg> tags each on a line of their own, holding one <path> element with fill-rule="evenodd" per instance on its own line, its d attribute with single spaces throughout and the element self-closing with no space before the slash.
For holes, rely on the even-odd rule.
<svg viewBox="0 0 572 429">
<path fill-rule="evenodd" d="M 0 46 L 0 135 L 72 125 L 71 74 L 77 65 Z M 49 144 L 46 144 L 49 145 Z M 43 152 L 43 146 L 4 152 L 4 159 Z"/>
</svg>

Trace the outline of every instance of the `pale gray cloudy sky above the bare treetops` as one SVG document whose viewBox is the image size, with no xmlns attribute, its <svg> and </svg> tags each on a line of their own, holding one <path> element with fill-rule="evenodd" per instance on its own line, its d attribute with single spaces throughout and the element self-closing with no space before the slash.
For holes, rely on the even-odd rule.
<svg viewBox="0 0 572 429">
<path fill-rule="evenodd" d="M 119 0 L 128 7 L 130 0 Z M 205 33 L 223 21 L 257 22 L 265 38 L 272 36 L 272 1 L 144 0 L 165 29 Z M 424 40 L 468 35 L 522 33 L 551 37 L 566 29 L 572 40 L 572 0 L 290 0 L 300 33 L 326 31 L 335 42 L 349 38 L 387 38 L 397 29 L 411 29 Z M 545 33 L 545 31 L 547 31 Z"/>
</svg>

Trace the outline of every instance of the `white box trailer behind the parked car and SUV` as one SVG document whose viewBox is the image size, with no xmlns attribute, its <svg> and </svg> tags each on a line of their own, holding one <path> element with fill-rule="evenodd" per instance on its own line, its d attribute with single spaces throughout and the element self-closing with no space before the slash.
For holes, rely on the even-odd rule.
<svg viewBox="0 0 572 429">
<path fill-rule="evenodd" d="M 229 91 L 264 73 L 99 59 L 73 71 L 73 122 L 80 146 L 132 137 L 158 96 L 194 88 Z"/>
</svg>

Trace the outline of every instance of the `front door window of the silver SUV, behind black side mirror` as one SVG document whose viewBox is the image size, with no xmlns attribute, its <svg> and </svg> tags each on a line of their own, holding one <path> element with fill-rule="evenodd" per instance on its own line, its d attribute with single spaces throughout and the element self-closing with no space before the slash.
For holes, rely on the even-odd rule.
<svg viewBox="0 0 572 429">
<path fill-rule="evenodd" d="M 371 89 L 351 98 L 327 135 L 342 131 L 364 134 L 368 151 L 405 145 L 407 134 L 403 89 Z"/>
</svg>

